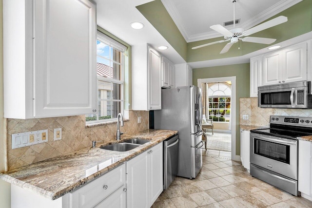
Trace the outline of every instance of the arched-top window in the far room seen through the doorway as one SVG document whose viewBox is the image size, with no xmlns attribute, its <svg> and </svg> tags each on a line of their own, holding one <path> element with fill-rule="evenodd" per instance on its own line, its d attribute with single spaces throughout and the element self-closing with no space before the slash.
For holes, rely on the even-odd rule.
<svg viewBox="0 0 312 208">
<path fill-rule="evenodd" d="M 231 85 L 229 83 L 210 83 L 208 86 L 209 119 L 217 122 L 230 122 Z"/>
</svg>

